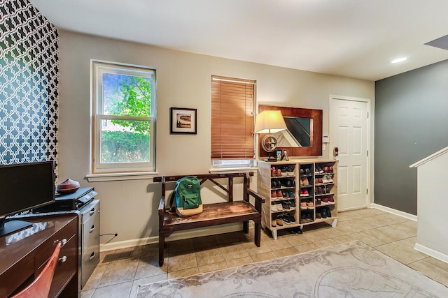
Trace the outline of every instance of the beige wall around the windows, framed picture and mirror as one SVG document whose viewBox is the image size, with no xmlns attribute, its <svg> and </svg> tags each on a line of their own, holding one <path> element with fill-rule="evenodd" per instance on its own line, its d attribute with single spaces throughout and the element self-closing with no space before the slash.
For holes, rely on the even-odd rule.
<svg viewBox="0 0 448 298">
<path fill-rule="evenodd" d="M 330 94 L 370 98 L 372 114 L 374 111 L 374 82 L 364 80 L 165 50 L 68 31 L 60 31 L 59 50 L 59 180 L 75 179 L 82 186 L 94 186 L 99 193 L 100 232 L 118 233 L 112 244 L 102 246 L 103 250 L 133 245 L 136 239 L 155 240 L 160 185 L 152 184 L 149 179 L 94 183 L 85 180 L 90 155 L 90 59 L 156 68 L 156 163 L 160 174 L 208 172 L 211 75 L 256 80 L 258 104 L 323 110 L 324 134 L 328 134 Z M 169 107 L 197 108 L 197 135 L 169 135 Z M 323 151 L 323 157 L 328 158 L 328 150 Z M 256 179 L 253 182 L 256 188 Z M 109 239 L 102 237 L 102 244 Z"/>
</svg>

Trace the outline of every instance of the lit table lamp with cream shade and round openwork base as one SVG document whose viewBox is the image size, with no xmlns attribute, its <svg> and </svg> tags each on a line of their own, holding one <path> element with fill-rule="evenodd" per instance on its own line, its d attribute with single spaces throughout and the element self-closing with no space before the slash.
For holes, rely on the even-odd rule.
<svg viewBox="0 0 448 298">
<path fill-rule="evenodd" d="M 271 152 L 277 147 L 277 140 L 271 133 L 278 133 L 287 129 L 285 120 L 280 111 L 263 111 L 255 118 L 254 133 L 267 133 L 261 141 L 262 148 L 267 152 L 268 158 L 263 161 L 276 161 L 275 156 L 271 157 Z"/>
</svg>

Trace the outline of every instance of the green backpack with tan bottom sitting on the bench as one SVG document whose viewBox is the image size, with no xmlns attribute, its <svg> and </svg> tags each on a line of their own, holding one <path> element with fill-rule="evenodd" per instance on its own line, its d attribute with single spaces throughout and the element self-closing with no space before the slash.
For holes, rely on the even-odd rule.
<svg viewBox="0 0 448 298">
<path fill-rule="evenodd" d="M 200 181 L 196 177 L 183 177 L 176 181 L 169 206 L 181 217 L 200 214 L 202 212 Z"/>
</svg>

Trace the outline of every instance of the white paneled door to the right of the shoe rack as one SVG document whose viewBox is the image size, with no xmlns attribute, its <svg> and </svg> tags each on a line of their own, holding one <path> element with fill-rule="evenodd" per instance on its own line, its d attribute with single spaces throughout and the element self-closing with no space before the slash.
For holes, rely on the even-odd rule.
<svg viewBox="0 0 448 298">
<path fill-rule="evenodd" d="M 330 97 L 330 142 L 338 147 L 337 209 L 367 207 L 370 100 Z"/>
</svg>

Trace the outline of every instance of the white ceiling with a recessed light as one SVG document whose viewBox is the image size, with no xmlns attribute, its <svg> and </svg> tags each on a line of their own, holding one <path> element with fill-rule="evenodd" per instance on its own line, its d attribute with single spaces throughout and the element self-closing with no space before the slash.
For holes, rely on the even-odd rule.
<svg viewBox="0 0 448 298">
<path fill-rule="evenodd" d="M 447 0 L 29 1 L 58 29 L 363 80 L 448 59 L 424 45 Z"/>
</svg>

